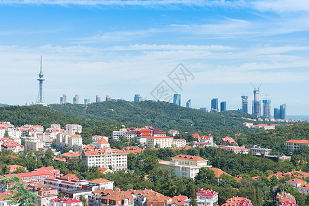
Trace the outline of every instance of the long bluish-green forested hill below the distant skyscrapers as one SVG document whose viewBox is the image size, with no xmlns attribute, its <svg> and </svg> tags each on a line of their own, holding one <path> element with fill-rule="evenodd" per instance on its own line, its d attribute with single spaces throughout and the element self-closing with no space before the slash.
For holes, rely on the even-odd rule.
<svg viewBox="0 0 309 206">
<path fill-rule="evenodd" d="M 169 102 L 100 102 L 88 104 L 51 104 L 50 109 L 81 119 L 109 120 L 153 126 L 162 130 L 180 132 L 217 133 L 217 135 L 235 135 L 252 133 L 255 130 L 242 126 L 246 122 L 240 117 L 253 117 L 238 111 L 207 113 L 194 108 L 184 108 Z"/>
</svg>

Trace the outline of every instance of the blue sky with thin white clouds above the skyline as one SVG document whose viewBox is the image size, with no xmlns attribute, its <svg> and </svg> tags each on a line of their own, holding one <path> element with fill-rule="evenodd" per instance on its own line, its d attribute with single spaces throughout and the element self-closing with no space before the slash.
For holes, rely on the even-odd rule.
<svg viewBox="0 0 309 206">
<path fill-rule="evenodd" d="M 308 19 L 304 0 L 0 0 L 0 102 L 35 102 L 43 52 L 47 104 L 63 93 L 151 100 L 165 80 L 182 105 L 237 109 L 252 82 L 272 107 L 309 115 Z M 194 76 L 181 89 L 168 78 L 180 62 Z"/>
</svg>

